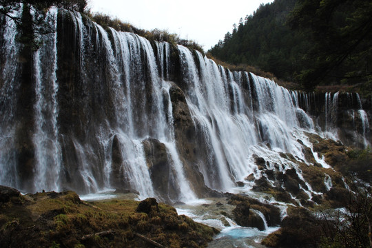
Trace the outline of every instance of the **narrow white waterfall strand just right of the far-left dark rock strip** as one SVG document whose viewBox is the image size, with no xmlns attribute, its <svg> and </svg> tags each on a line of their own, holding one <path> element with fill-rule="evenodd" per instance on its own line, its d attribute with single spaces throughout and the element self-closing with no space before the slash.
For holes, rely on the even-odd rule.
<svg viewBox="0 0 372 248">
<path fill-rule="evenodd" d="M 56 28 L 56 9 L 48 12 L 48 22 Z M 59 130 L 56 123 L 58 103 L 56 94 L 56 33 L 45 37 L 45 45 L 34 54 L 37 102 L 35 108 L 36 130 L 34 145 L 36 153 L 35 187 L 36 189 L 59 190 L 61 169 L 61 147 Z"/>
</svg>

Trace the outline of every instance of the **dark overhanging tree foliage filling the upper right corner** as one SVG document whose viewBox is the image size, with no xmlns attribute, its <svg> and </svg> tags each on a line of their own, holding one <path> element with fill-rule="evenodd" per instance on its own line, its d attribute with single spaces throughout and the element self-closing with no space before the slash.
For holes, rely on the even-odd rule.
<svg viewBox="0 0 372 248">
<path fill-rule="evenodd" d="M 371 1 L 302 0 L 291 12 L 288 23 L 293 30 L 307 32 L 313 42 L 298 73 L 307 90 L 330 81 L 353 83 L 371 79 Z"/>
</svg>

